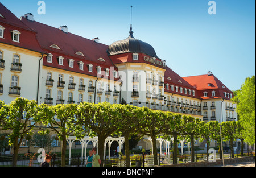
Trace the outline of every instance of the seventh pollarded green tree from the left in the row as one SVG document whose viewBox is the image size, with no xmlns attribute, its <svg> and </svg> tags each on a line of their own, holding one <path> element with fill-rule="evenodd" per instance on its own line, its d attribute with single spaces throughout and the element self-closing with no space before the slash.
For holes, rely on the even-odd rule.
<svg viewBox="0 0 256 178">
<path fill-rule="evenodd" d="M 203 121 L 190 115 L 183 115 L 182 118 L 184 119 L 183 138 L 191 142 L 191 162 L 195 162 L 195 140 L 200 138 Z"/>
</svg>

